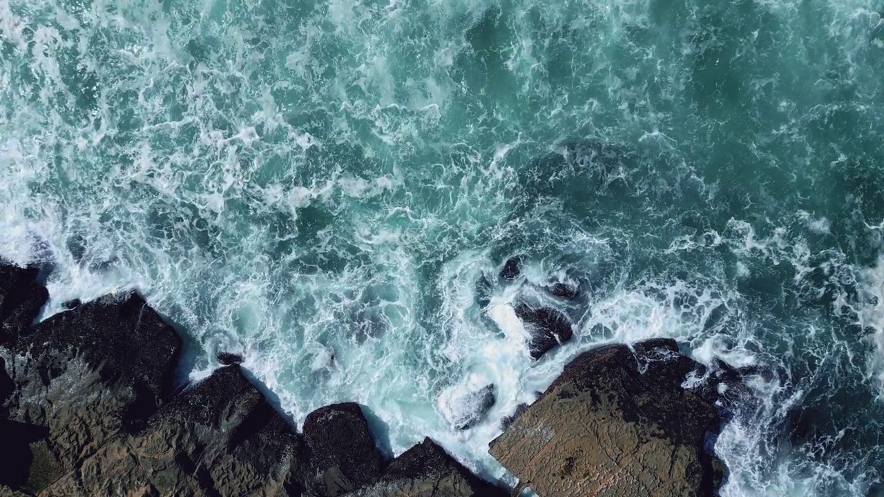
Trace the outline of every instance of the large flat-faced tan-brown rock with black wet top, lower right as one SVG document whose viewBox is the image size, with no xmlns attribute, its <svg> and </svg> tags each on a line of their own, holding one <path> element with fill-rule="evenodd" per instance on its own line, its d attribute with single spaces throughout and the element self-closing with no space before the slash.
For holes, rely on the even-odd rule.
<svg viewBox="0 0 884 497">
<path fill-rule="evenodd" d="M 713 495 L 723 465 L 704 446 L 720 416 L 682 388 L 695 366 L 674 340 L 586 352 L 491 454 L 544 497 Z"/>
</svg>

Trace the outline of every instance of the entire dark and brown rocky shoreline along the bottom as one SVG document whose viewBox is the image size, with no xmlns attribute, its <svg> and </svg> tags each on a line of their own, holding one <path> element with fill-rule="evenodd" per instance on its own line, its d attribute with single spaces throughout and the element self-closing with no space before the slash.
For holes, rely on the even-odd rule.
<svg viewBox="0 0 884 497">
<path fill-rule="evenodd" d="M 297 432 L 236 356 L 176 390 L 181 337 L 137 294 L 74 302 L 32 325 L 48 299 L 37 276 L 0 264 L 2 496 L 513 492 L 430 439 L 385 460 L 358 404 L 317 409 Z M 520 409 L 491 454 L 544 496 L 713 495 L 724 475 L 705 452 L 721 424 L 717 375 L 673 340 L 591 350 Z M 682 387 L 690 376 L 701 380 Z"/>
</svg>

